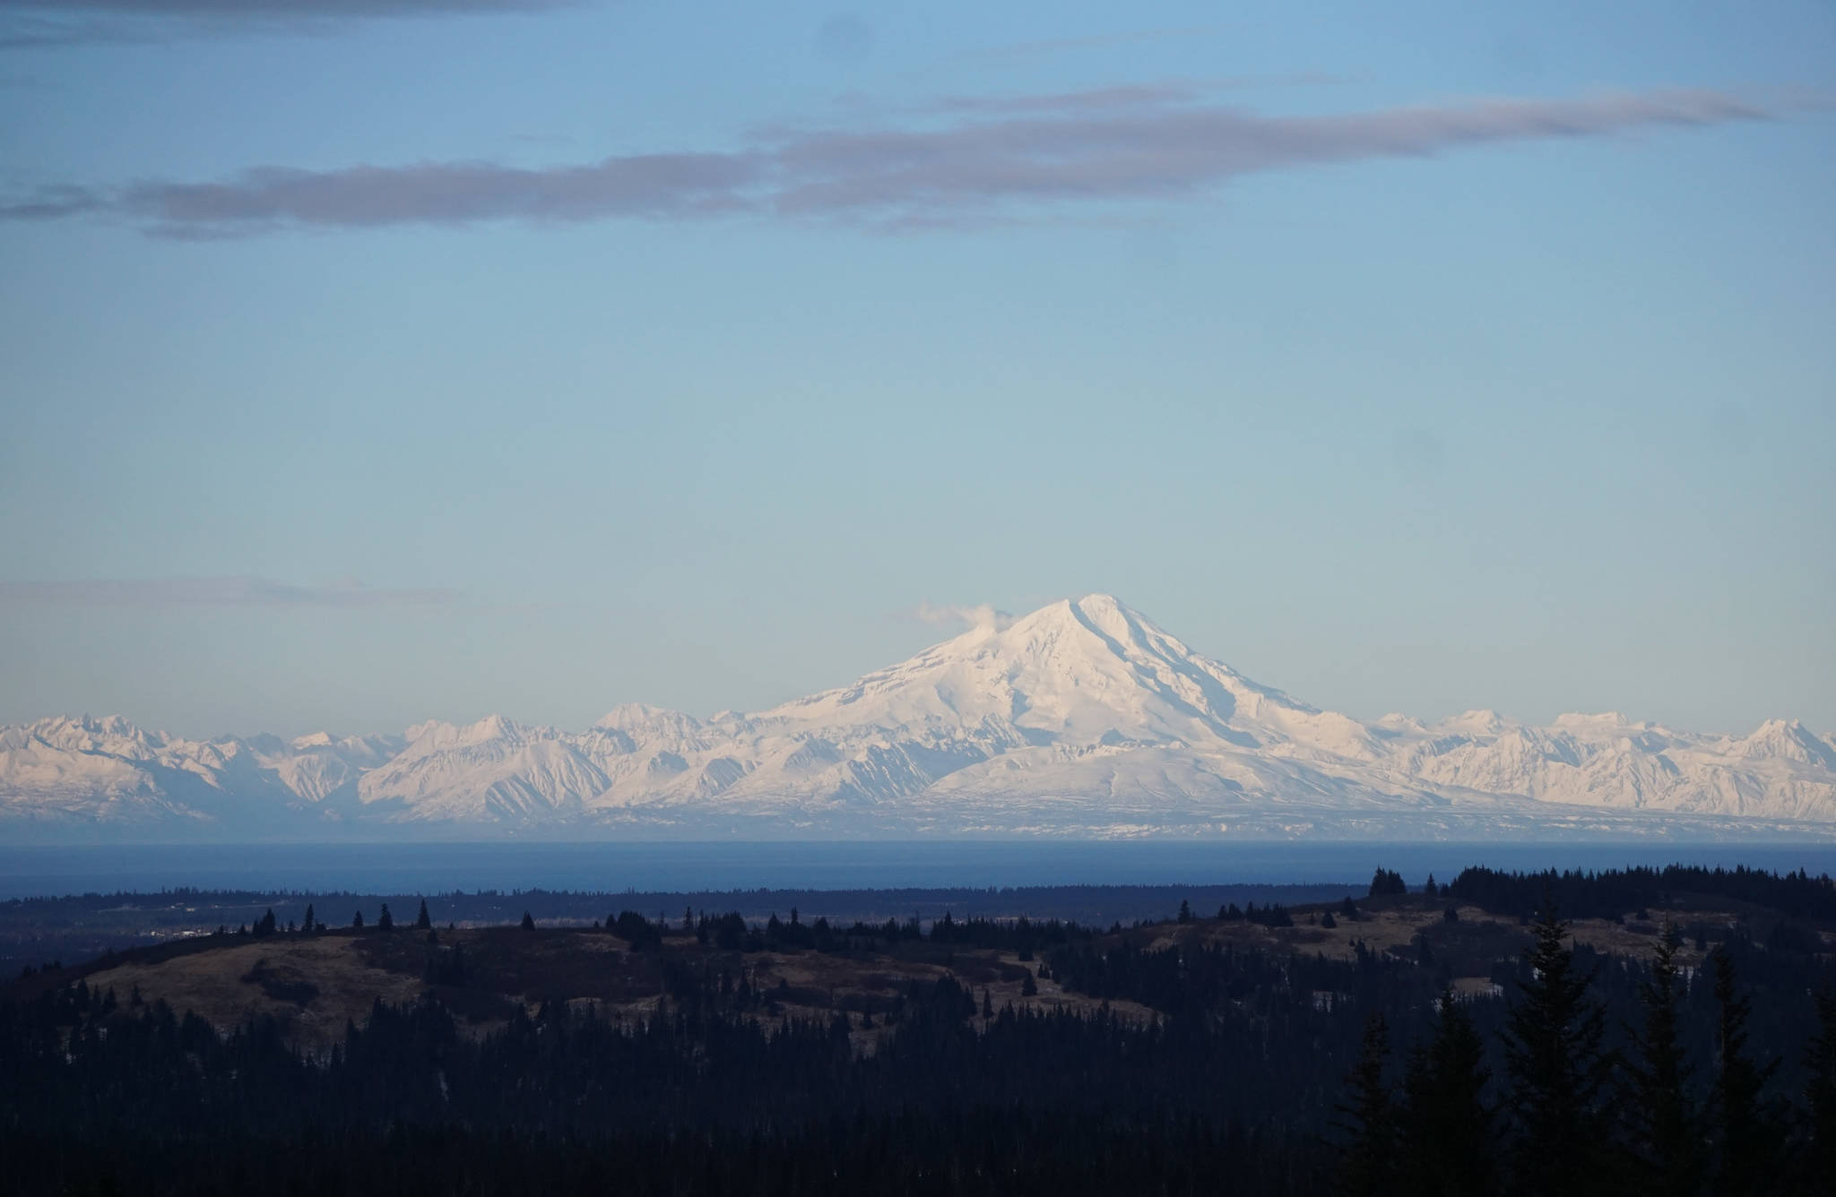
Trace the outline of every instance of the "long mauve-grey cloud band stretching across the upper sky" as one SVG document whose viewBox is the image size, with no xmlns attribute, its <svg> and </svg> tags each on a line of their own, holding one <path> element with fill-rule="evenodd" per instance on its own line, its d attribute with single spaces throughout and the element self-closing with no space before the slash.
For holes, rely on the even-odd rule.
<svg viewBox="0 0 1836 1197">
<path fill-rule="evenodd" d="M 0 218 L 106 211 L 167 237 L 740 213 L 885 231 L 973 228 L 1061 218 L 1113 202 L 1192 198 L 1265 171 L 1772 116 L 1722 92 L 1483 99 L 1344 116 L 1263 116 L 1181 99 L 1168 88 L 1107 88 L 1030 105 L 995 101 L 986 112 L 916 125 L 777 129 L 734 151 L 540 169 L 487 162 L 259 167 L 202 184 L 64 185 L 0 202 Z"/>
</svg>

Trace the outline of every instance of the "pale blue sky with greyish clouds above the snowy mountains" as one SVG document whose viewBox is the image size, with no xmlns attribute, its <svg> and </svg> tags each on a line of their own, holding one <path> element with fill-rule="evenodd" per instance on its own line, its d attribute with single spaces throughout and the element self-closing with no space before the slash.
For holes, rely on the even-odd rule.
<svg viewBox="0 0 1836 1197">
<path fill-rule="evenodd" d="M 1836 731 L 1827 2 L 301 7 L 0 0 L 0 722 Z"/>
</svg>

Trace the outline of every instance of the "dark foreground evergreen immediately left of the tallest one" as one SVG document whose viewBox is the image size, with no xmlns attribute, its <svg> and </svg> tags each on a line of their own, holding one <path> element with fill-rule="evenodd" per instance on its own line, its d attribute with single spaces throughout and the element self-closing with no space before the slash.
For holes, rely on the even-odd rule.
<svg viewBox="0 0 1836 1197">
<path fill-rule="evenodd" d="M 1410 1052 L 1403 1081 L 1403 1180 L 1412 1193 L 1463 1197 L 1495 1188 L 1485 1041 L 1452 990 L 1436 1002 L 1434 1037 Z"/>
</svg>

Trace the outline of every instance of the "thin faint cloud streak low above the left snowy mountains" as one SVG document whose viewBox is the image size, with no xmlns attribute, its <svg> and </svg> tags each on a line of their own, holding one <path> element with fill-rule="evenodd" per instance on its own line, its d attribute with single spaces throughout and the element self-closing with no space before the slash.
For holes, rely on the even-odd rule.
<svg viewBox="0 0 1836 1197">
<path fill-rule="evenodd" d="M 356 580 L 297 586 L 270 578 L 86 578 L 77 582 L 0 582 L 0 604 L 42 606 L 241 606 L 241 608 L 402 608 L 441 606 L 461 591 L 369 587 Z"/>
</svg>

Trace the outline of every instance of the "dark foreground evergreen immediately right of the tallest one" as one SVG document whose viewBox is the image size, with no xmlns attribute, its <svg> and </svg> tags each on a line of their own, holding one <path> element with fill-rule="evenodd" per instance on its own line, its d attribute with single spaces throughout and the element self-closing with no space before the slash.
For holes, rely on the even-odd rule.
<svg viewBox="0 0 1836 1197">
<path fill-rule="evenodd" d="M 1636 1158 L 1640 1188 L 1680 1197 L 1702 1182 L 1702 1131 L 1689 1100 L 1691 1067 L 1678 1041 L 1676 927 L 1663 925 L 1652 947 L 1651 979 L 1640 984 L 1643 1030 L 1632 1032 L 1632 1059 L 1621 1087 L 1621 1107 Z"/>
</svg>

